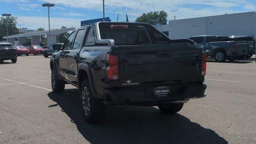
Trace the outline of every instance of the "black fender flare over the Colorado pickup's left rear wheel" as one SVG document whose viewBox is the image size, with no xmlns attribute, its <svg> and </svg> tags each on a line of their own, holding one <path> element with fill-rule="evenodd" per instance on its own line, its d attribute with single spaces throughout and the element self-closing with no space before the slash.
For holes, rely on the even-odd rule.
<svg viewBox="0 0 256 144">
<path fill-rule="evenodd" d="M 79 71 L 80 70 L 84 70 L 86 71 L 87 75 L 88 75 L 88 80 L 90 82 L 90 87 L 91 87 L 91 90 L 92 90 L 92 94 L 94 96 L 94 98 L 101 98 L 99 97 L 99 94 L 97 94 L 96 90 L 95 90 L 95 87 L 94 87 L 94 82 L 93 82 L 93 78 L 92 78 L 92 71 L 91 71 L 91 68 L 88 64 L 85 64 L 85 63 L 80 63 L 78 65 L 78 77 L 77 77 L 77 81 L 78 81 L 78 86 L 80 88 L 80 82 L 79 82 Z"/>
</svg>

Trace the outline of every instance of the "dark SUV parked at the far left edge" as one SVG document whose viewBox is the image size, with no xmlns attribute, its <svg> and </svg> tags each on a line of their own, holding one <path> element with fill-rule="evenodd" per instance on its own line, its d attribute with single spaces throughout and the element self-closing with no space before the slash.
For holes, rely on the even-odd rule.
<svg viewBox="0 0 256 144">
<path fill-rule="evenodd" d="M 10 43 L 0 43 L 0 63 L 4 60 L 12 60 L 17 62 L 17 51 Z"/>
</svg>

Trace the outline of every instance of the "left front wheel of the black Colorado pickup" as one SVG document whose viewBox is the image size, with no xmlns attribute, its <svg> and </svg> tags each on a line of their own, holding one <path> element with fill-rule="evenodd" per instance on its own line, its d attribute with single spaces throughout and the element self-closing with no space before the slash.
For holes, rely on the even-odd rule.
<svg viewBox="0 0 256 144">
<path fill-rule="evenodd" d="M 56 73 L 54 70 L 52 70 L 52 91 L 56 94 L 60 94 L 65 89 L 65 82 L 63 80 L 58 80 Z"/>
</svg>

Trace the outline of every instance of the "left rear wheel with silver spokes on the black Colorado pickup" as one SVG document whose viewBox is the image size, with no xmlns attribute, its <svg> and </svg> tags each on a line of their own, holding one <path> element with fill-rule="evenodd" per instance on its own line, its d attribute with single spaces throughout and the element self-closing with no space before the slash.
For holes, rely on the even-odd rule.
<svg viewBox="0 0 256 144">
<path fill-rule="evenodd" d="M 104 118 L 105 107 L 103 101 L 94 98 L 88 80 L 84 80 L 82 83 L 80 98 L 86 122 L 95 123 Z"/>
</svg>

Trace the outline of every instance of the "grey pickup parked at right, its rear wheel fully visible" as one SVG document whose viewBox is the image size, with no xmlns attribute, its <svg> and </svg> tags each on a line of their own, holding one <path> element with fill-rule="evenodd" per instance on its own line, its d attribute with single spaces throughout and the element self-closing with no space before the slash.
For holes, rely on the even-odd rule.
<svg viewBox="0 0 256 144">
<path fill-rule="evenodd" d="M 234 41 L 228 36 L 192 36 L 189 39 L 202 45 L 206 56 L 215 58 L 217 62 L 234 61 L 250 54 L 246 41 Z"/>
</svg>

